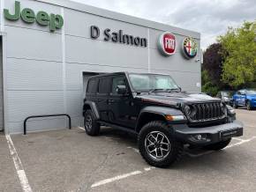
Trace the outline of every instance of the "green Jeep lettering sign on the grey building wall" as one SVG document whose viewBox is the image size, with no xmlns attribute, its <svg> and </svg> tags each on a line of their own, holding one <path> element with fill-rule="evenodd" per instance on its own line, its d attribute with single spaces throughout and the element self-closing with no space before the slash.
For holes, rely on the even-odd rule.
<svg viewBox="0 0 256 192">
<path fill-rule="evenodd" d="M 15 1 L 14 10 L 15 12 L 11 14 L 9 10 L 4 9 L 4 18 L 12 21 L 21 18 L 28 24 L 33 24 L 36 21 L 40 26 L 49 26 L 50 32 L 55 32 L 56 29 L 61 29 L 64 26 L 64 18 L 61 15 L 55 15 L 53 13 L 48 14 L 45 11 L 38 11 L 35 14 L 35 12 L 29 8 L 20 10 L 20 3 L 18 1 Z"/>
</svg>

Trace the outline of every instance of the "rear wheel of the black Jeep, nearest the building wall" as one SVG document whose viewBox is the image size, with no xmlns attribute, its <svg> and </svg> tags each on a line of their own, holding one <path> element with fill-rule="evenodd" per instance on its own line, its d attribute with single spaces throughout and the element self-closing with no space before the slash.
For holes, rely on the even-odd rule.
<svg viewBox="0 0 256 192">
<path fill-rule="evenodd" d="M 91 120 L 91 126 L 87 124 L 87 122 L 90 120 Z M 100 126 L 100 123 L 96 122 L 96 120 L 94 119 L 94 114 L 92 110 L 88 109 L 86 111 L 84 123 L 85 123 L 85 129 L 86 129 L 87 135 L 98 136 L 100 134 L 101 126 Z"/>
</svg>

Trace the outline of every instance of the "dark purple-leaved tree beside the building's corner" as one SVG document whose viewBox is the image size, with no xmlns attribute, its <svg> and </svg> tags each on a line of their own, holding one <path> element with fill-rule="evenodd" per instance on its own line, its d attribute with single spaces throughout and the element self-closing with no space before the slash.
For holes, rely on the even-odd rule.
<svg viewBox="0 0 256 192">
<path fill-rule="evenodd" d="M 222 86 L 222 44 L 214 43 L 210 45 L 204 53 L 204 63 L 202 65 L 203 70 L 207 70 L 209 80 L 214 85 Z"/>
</svg>

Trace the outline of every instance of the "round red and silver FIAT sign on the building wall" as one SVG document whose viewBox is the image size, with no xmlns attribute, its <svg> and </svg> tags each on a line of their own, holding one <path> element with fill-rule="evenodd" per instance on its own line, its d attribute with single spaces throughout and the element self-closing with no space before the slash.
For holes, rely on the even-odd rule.
<svg viewBox="0 0 256 192">
<path fill-rule="evenodd" d="M 169 56 L 175 54 L 176 37 L 174 34 L 165 32 L 160 35 L 158 40 L 158 49 L 163 55 Z"/>
</svg>

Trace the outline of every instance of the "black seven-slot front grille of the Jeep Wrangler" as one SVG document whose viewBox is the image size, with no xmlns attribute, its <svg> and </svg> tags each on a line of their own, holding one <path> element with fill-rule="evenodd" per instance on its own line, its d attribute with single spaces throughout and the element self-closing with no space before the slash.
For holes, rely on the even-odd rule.
<svg viewBox="0 0 256 192">
<path fill-rule="evenodd" d="M 205 122 L 222 119 L 225 113 L 220 102 L 197 103 L 191 105 L 191 113 L 187 114 L 192 122 Z"/>
</svg>

